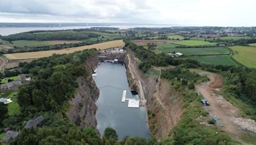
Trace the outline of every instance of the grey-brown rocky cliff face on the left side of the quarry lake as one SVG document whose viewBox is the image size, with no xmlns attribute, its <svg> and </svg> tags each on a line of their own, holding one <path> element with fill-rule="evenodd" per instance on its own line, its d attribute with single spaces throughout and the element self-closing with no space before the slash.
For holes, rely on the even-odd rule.
<svg viewBox="0 0 256 145">
<path fill-rule="evenodd" d="M 70 107 L 67 111 L 67 117 L 69 121 L 76 123 L 79 128 L 83 128 L 86 125 L 96 128 L 97 120 L 95 117 L 97 106 L 95 102 L 99 97 L 99 89 L 95 85 L 92 79 L 91 72 L 97 64 L 99 59 L 97 54 L 93 55 L 85 62 L 85 66 L 88 70 L 87 77 L 77 78 L 78 88 L 75 97 L 69 101 Z"/>
</svg>

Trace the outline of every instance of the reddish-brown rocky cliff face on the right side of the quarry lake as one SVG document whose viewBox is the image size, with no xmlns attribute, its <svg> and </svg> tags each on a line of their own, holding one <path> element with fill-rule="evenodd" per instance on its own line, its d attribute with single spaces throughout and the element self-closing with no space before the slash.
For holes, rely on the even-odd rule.
<svg viewBox="0 0 256 145">
<path fill-rule="evenodd" d="M 150 133 L 157 139 L 162 139 L 168 135 L 182 115 L 182 95 L 175 92 L 168 81 L 159 80 L 158 74 L 141 72 L 138 68 L 140 60 L 134 57 L 132 52 L 130 53 L 130 57 L 126 57 L 125 60 L 130 88 L 141 95 L 141 89 L 138 87 L 138 81 L 140 81 L 143 95 L 147 100 Z M 159 85 L 158 90 L 157 84 Z"/>
</svg>

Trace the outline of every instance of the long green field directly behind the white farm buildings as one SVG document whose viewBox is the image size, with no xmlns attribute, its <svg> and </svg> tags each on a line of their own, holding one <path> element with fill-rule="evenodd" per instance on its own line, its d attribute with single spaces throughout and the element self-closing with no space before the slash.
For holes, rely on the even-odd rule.
<svg viewBox="0 0 256 145">
<path fill-rule="evenodd" d="M 170 52 L 180 52 L 184 55 L 221 55 L 221 54 L 230 54 L 230 51 L 224 47 L 211 47 L 211 48 L 170 48 L 162 49 L 164 53 Z"/>
</svg>

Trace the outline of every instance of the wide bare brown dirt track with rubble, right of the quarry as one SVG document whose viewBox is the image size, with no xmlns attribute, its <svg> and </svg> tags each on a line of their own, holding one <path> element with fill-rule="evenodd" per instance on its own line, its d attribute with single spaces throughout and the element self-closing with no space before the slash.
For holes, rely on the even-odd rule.
<svg viewBox="0 0 256 145">
<path fill-rule="evenodd" d="M 241 141 L 239 138 L 241 134 L 244 133 L 243 130 L 250 130 L 256 133 L 255 121 L 241 118 L 237 107 L 230 104 L 221 95 L 216 94 L 216 90 L 222 88 L 222 78 L 220 76 L 211 72 L 192 71 L 197 71 L 200 75 L 206 75 L 210 78 L 210 81 L 207 83 L 196 85 L 196 89 L 209 101 L 210 106 L 208 108 L 205 107 L 205 109 L 209 111 L 212 118 L 217 121 L 217 125 L 221 127 L 221 130 L 232 135 L 237 141 Z"/>
</svg>

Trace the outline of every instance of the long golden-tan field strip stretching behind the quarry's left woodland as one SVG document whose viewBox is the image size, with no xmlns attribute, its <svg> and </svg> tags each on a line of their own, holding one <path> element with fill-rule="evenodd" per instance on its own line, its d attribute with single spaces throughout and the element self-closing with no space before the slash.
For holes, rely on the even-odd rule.
<svg viewBox="0 0 256 145">
<path fill-rule="evenodd" d="M 64 53 L 73 53 L 79 52 L 82 50 L 88 50 L 92 48 L 97 48 L 100 50 L 104 50 L 107 48 L 114 48 L 117 46 L 124 46 L 125 43 L 123 40 L 115 40 L 115 41 L 108 41 L 105 43 L 98 43 L 95 45 L 87 45 L 87 46 L 79 46 L 74 48 L 67 48 L 62 50 L 49 50 L 49 51 L 42 51 L 42 52 L 25 52 L 25 53 L 10 53 L 5 54 L 4 56 L 9 60 L 19 60 L 19 59 L 38 59 L 42 57 L 50 57 L 52 54 L 64 54 Z"/>
</svg>

